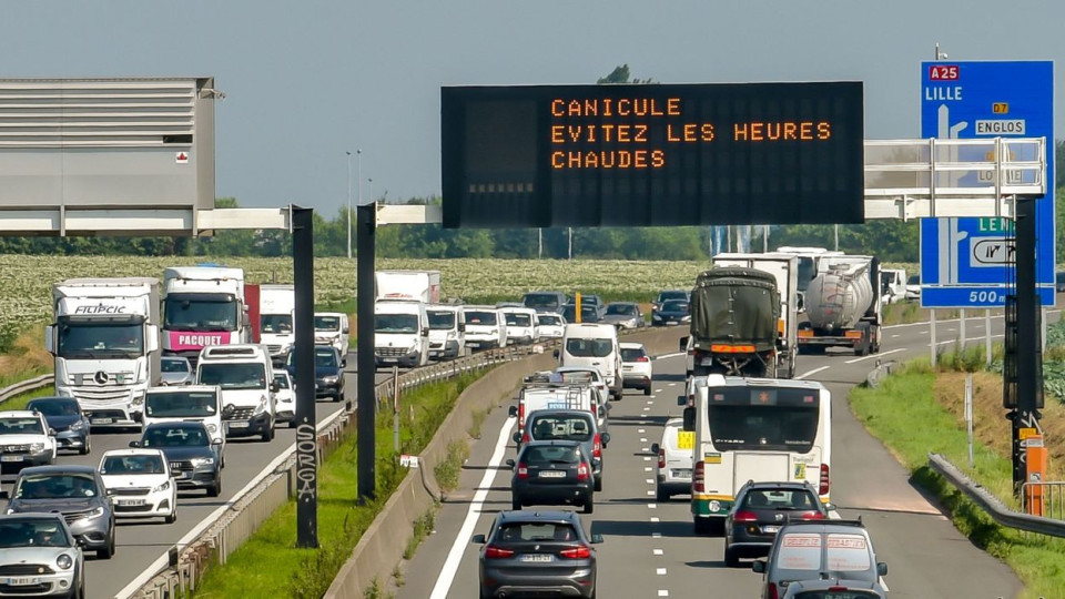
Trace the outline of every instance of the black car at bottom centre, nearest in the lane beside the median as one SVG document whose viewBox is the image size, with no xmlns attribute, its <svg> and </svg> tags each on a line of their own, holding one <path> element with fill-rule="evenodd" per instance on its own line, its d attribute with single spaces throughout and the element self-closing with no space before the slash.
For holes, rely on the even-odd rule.
<svg viewBox="0 0 1065 599">
<path fill-rule="evenodd" d="M 503 511 L 488 535 L 475 535 L 480 550 L 481 599 L 497 597 L 596 596 L 596 549 L 572 511 Z"/>
</svg>

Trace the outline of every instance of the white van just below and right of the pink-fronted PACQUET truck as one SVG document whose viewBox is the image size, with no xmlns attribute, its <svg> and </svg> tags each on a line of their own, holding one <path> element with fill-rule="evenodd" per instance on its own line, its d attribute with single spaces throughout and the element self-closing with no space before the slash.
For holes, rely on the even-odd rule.
<svg viewBox="0 0 1065 599">
<path fill-rule="evenodd" d="M 204 347 L 196 363 L 196 385 L 221 387 L 226 437 L 274 438 L 276 386 L 266 346 L 242 343 Z"/>
</svg>

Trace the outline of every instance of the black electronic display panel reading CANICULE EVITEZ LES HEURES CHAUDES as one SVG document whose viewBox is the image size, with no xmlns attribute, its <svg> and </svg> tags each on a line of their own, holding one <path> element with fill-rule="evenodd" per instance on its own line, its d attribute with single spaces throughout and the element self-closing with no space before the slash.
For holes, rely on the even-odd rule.
<svg viewBox="0 0 1065 599">
<path fill-rule="evenodd" d="M 863 88 L 440 90 L 444 226 L 864 222 Z"/>
</svg>

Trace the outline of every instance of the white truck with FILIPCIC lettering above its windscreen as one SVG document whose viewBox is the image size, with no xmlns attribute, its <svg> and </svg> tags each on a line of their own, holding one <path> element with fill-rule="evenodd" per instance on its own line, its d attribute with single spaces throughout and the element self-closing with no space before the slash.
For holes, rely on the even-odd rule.
<svg viewBox="0 0 1065 599">
<path fill-rule="evenodd" d="M 71 278 L 52 285 L 55 393 L 78 399 L 94 426 L 139 426 L 160 384 L 159 280 Z"/>
</svg>

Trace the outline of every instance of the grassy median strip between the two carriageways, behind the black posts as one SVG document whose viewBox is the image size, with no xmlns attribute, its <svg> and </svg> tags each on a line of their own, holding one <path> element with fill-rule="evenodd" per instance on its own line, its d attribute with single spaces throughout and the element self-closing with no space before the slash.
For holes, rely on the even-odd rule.
<svg viewBox="0 0 1065 599">
<path fill-rule="evenodd" d="M 483 374 L 468 373 L 405 394 L 399 420 L 400 453 L 420 453 L 455 406 L 458 395 Z M 392 410 L 383 410 L 376 423 L 376 501 L 357 504 L 358 456 L 356 438 L 352 435 L 318 468 L 320 548 L 295 547 L 296 505 L 288 501 L 230 556 L 224 566 L 211 567 L 193 597 L 322 597 L 406 475 L 393 453 L 392 417 Z"/>
</svg>

